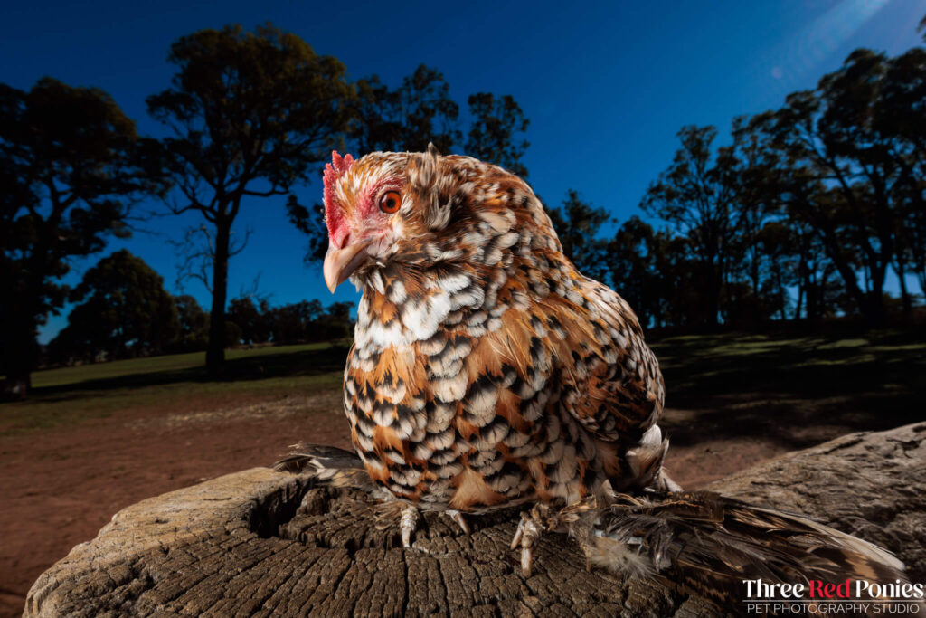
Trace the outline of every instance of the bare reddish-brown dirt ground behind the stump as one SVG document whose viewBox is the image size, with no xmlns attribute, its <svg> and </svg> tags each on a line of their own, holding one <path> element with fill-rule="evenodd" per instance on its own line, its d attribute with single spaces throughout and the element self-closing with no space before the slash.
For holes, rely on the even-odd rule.
<svg viewBox="0 0 926 618">
<path fill-rule="evenodd" d="M 0 614 L 19 615 L 39 574 L 134 502 L 269 465 L 297 440 L 348 447 L 339 410 L 334 392 L 224 409 L 190 402 L 0 437 Z M 698 486 L 783 450 L 755 438 L 708 440 L 673 448 L 668 466 L 683 486 Z"/>
</svg>

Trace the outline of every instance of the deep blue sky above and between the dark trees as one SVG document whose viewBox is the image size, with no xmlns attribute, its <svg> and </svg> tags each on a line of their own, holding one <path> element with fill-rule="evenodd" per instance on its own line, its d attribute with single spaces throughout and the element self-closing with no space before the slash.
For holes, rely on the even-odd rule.
<svg viewBox="0 0 926 618">
<path fill-rule="evenodd" d="M 144 98 L 169 86 L 169 44 L 202 28 L 270 21 L 341 59 L 353 78 L 376 73 L 395 84 L 423 62 L 444 73 L 461 104 L 475 92 L 514 95 L 531 120 L 529 180 L 547 203 L 575 188 L 623 220 L 669 165 L 682 125 L 715 124 L 723 135 L 734 116 L 781 105 L 856 47 L 895 55 L 920 44 L 926 0 L 6 2 L 2 14 L 0 82 L 28 89 L 50 75 L 101 87 L 146 133 L 159 131 Z M 300 201 L 318 202 L 320 184 L 299 187 Z M 259 274 L 273 304 L 356 301 L 349 285 L 331 296 L 320 268 L 304 265 L 305 239 L 283 207 L 284 198 L 244 204 L 236 228 L 254 233 L 232 259 L 230 297 Z M 69 281 L 124 246 L 179 293 L 167 241 L 197 223 L 151 221 L 149 233 L 76 261 Z M 185 291 L 208 308 L 201 285 Z M 51 318 L 42 341 L 65 315 Z"/>
</svg>

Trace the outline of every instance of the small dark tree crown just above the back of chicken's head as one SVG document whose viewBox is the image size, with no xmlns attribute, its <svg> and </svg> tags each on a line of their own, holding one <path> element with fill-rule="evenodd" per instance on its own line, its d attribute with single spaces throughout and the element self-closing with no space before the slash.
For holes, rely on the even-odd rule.
<svg viewBox="0 0 926 618">
<path fill-rule="evenodd" d="M 521 157 L 530 143 L 516 137 L 516 133 L 527 131 L 530 121 L 518 102 L 511 95 L 498 98 L 491 93 L 469 95 L 469 113 L 473 118 L 466 153 L 526 178 L 527 168 Z"/>
</svg>

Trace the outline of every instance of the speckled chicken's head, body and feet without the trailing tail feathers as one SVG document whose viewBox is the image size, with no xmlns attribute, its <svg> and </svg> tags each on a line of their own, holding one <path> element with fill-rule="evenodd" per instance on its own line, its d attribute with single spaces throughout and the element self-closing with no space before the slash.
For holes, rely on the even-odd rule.
<svg viewBox="0 0 926 618">
<path fill-rule="evenodd" d="M 531 187 L 474 158 L 337 153 L 324 276 L 363 297 L 344 410 L 370 478 L 414 508 L 558 508 L 674 486 L 657 359 L 624 300 L 563 255 Z M 530 572 L 543 522 L 514 545 Z"/>
</svg>

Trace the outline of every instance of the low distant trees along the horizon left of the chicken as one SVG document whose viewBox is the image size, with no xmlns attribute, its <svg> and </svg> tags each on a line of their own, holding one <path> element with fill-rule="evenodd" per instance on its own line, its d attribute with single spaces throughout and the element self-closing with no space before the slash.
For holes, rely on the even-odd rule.
<svg viewBox="0 0 926 618">
<path fill-rule="evenodd" d="M 122 249 L 101 259 L 70 296 L 68 325 L 48 344 L 44 361 L 73 364 L 205 350 L 209 314 L 193 296 L 171 296 L 164 279 Z M 318 300 L 271 307 L 239 296 L 226 314 L 225 346 L 312 343 L 352 334 L 353 303 Z"/>
</svg>

